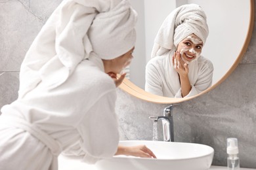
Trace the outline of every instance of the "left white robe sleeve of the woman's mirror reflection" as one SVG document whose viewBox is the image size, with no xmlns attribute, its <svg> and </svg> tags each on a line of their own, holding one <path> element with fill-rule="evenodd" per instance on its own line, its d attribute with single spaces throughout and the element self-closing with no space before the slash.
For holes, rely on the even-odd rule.
<svg viewBox="0 0 256 170">
<path fill-rule="evenodd" d="M 145 91 L 163 96 L 163 84 L 161 83 L 160 73 L 156 65 L 150 62 L 146 65 Z"/>
</svg>

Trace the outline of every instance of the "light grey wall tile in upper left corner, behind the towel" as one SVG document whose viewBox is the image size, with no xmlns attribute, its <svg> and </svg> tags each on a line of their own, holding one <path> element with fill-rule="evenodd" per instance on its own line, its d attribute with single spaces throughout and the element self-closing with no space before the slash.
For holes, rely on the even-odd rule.
<svg viewBox="0 0 256 170">
<path fill-rule="evenodd" d="M 0 71 L 20 70 L 20 64 L 30 44 L 60 2 L 58 0 L 0 3 Z"/>
</svg>

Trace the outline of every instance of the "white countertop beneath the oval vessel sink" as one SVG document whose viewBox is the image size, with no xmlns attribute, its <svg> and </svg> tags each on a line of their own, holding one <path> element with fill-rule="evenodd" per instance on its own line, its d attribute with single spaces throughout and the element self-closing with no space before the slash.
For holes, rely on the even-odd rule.
<svg viewBox="0 0 256 170">
<path fill-rule="evenodd" d="M 58 158 L 58 169 L 59 170 L 98 170 L 95 165 L 89 165 L 79 160 L 70 160 L 62 155 Z M 211 166 L 209 170 L 226 170 L 226 167 Z M 240 167 L 240 170 L 256 170 Z"/>
</svg>

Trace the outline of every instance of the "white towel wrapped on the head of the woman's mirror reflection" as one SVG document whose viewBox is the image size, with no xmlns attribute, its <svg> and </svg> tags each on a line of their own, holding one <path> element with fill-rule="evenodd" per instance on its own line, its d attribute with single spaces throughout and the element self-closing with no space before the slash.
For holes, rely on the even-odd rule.
<svg viewBox="0 0 256 170">
<path fill-rule="evenodd" d="M 196 4 L 187 4 L 173 10 L 163 21 L 152 49 L 151 57 L 175 50 L 177 44 L 194 33 L 205 44 L 209 30 L 205 12 Z"/>
</svg>

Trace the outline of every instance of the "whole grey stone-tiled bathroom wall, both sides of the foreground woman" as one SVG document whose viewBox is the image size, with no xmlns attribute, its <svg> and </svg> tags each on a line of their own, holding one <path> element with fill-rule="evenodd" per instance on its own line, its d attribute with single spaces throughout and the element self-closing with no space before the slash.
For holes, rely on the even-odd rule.
<svg viewBox="0 0 256 170">
<path fill-rule="evenodd" d="M 17 98 L 20 63 L 60 1 L 0 2 L 0 107 Z M 244 59 L 221 85 L 173 109 L 175 141 L 212 146 L 213 165 L 226 165 L 226 138 L 237 137 L 241 167 L 256 168 L 255 55 L 256 31 L 253 31 Z M 162 114 L 167 106 L 142 101 L 117 89 L 121 139 L 152 140 L 152 122 L 148 116 Z M 161 125 L 158 127 L 161 139 Z"/>
</svg>

